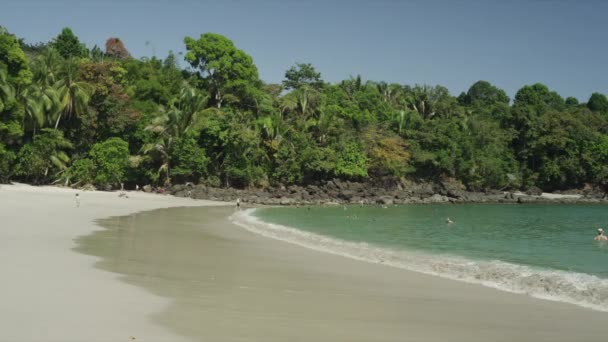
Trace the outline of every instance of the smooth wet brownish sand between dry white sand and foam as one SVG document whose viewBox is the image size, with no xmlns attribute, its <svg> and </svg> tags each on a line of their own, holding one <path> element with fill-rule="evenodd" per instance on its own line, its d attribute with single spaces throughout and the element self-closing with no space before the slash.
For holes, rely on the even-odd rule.
<svg viewBox="0 0 608 342">
<path fill-rule="evenodd" d="M 78 239 L 97 267 L 172 299 L 196 341 L 606 341 L 608 314 L 267 239 L 232 208 L 114 217 Z"/>
</svg>

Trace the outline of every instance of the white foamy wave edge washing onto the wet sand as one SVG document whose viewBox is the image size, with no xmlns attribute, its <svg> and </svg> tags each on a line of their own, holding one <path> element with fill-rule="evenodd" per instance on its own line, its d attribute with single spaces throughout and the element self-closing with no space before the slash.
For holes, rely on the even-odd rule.
<svg viewBox="0 0 608 342">
<path fill-rule="evenodd" d="M 250 232 L 321 252 L 608 312 L 608 279 L 499 260 L 472 260 L 344 241 L 264 222 L 253 215 L 254 211 L 255 209 L 238 211 L 230 220 Z"/>
</svg>

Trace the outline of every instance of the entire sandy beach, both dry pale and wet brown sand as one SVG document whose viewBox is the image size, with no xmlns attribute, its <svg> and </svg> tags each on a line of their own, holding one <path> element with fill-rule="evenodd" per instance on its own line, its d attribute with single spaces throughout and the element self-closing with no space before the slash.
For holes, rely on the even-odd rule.
<svg viewBox="0 0 608 342">
<path fill-rule="evenodd" d="M 74 193 L 0 188 L 0 341 L 606 340 L 607 313 L 268 239 L 233 207 Z"/>
</svg>

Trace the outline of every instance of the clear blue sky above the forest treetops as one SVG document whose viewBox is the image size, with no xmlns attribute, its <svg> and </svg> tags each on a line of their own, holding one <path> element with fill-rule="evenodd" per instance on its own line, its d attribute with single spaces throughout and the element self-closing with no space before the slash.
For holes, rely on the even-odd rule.
<svg viewBox="0 0 608 342">
<path fill-rule="evenodd" d="M 0 9 L 0 25 L 28 42 L 67 26 L 89 47 L 119 37 L 135 57 L 165 57 L 183 51 L 186 35 L 220 33 L 273 83 L 306 62 L 330 82 L 360 74 L 454 95 L 480 79 L 510 96 L 535 82 L 581 101 L 608 93 L 602 0 L 0 0 Z"/>
</svg>

